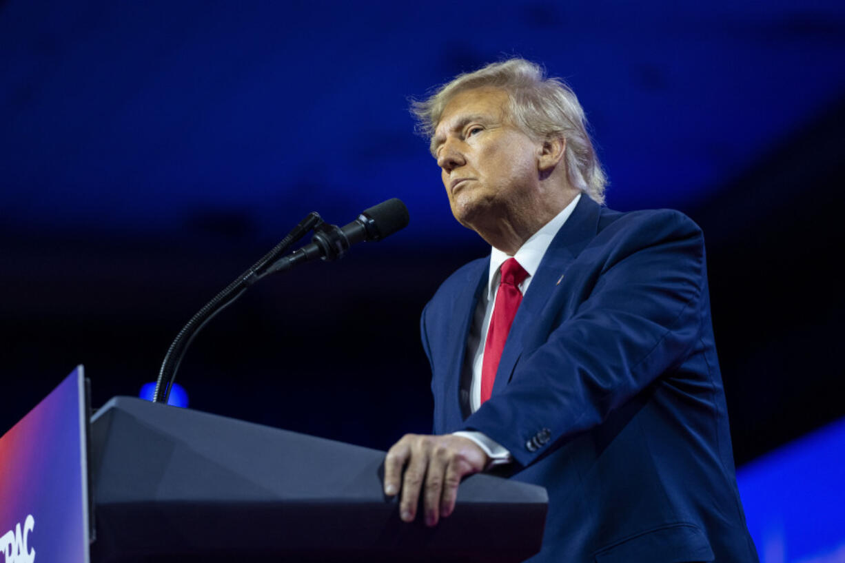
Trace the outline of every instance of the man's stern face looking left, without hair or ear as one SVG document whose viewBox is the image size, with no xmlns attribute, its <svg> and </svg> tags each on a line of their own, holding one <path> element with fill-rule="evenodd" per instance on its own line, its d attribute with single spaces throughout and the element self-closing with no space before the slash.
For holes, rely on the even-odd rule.
<svg viewBox="0 0 845 563">
<path fill-rule="evenodd" d="M 541 144 L 511 123 L 507 102 L 498 88 L 465 90 L 446 105 L 434 133 L 452 214 L 476 231 L 537 203 Z"/>
</svg>

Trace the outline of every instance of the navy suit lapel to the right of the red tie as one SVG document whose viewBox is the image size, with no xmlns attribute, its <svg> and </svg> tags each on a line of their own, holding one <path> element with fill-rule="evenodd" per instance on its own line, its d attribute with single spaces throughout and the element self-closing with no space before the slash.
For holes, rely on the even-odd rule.
<svg viewBox="0 0 845 563">
<path fill-rule="evenodd" d="M 493 382 L 493 395 L 504 390 L 513 377 L 517 360 L 523 352 L 523 336 L 528 328 L 535 324 L 542 310 L 552 296 L 566 269 L 581 253 L 581 250 L 595 238 L 601 206 L 586 194 L 581 196 L 572 215 L 548 245 L 537 272 L 522 298 L 516 311 L 514 324 L 510 326 L 508 340 L 504 343 L 496 380 Z"/>
</svg>

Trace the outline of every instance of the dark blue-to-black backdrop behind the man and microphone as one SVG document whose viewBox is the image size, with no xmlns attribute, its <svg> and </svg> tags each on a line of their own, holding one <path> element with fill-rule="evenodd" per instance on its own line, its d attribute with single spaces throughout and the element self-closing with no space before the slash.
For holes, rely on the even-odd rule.
<svg viewBox="0 0 845 563">
<path fill-rule="evenodd" d="M 503 56 L 581 97 L 614 209 L 705 229 L 739 463 L 837 395 L 845 4 L 0 2 L 8 429 L 77 363 L 95 405 L 308 211 L 411 225 L 270 278 L 196 339 L 191 407 L 386 449 L 429 428 L 418 316 L 488 249 L 450 216 L 409 96 Z"/>
</svg>

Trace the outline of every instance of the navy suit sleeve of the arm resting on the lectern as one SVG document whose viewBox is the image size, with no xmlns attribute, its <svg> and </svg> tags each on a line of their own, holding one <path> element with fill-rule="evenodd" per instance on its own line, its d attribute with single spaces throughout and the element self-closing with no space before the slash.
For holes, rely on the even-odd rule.
<svg viewBox="0 0 845 563">
<path fill-rule="evenodd" d="M 701 230 L 669 211 L 617 222 L 601 245 L 581 253 L 584 267 L 567 271 L 587 280 L 576 283 L 587 297 L 574 314 L 526 348 L 510 384 L 466 419 L 467 429 L 499 442 L 522 466 L 601 424 L 682 362 L 699 338 Z"/>
</svg>

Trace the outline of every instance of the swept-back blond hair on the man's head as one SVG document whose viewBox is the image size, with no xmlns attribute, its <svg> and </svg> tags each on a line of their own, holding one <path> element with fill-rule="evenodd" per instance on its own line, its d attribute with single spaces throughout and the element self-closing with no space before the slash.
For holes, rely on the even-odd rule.
<svg viewBox="0 0 845 563">
<path fill-rule="evenodd" d="M 575 92 L 557 78 L 547 78 L 540 65 L 523 58 L 491 63 L 472 73 L 459 74 L 425 101 L 412 101 L 417 131 L 433 145 L 434 129 L 446 105 L 456 94 L 476 88 L 500 88 L 508 93 L 510 118 L 535 139 L 566 139 L 566 171 L 570 184 L 604 203 L 608 178 L 586 131 L 584 109 Z"/>
</svg>

